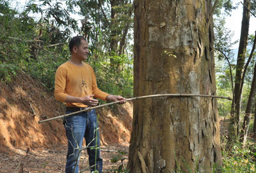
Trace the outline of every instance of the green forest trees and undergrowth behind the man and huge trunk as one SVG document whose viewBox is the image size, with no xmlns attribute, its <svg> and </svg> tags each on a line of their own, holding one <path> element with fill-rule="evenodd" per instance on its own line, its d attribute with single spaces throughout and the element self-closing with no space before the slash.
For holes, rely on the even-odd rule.
<svg viewBox="0 0 256 173">
<path fill-rule="evenodd" d="M 250 28 L 256 30 L 256 27 L 253 28 L 256 1 L 250 3 Z M 235 98 L 237 69 L 245 71 L 240 88 L 243 92 L 239 97 L 239 121 L 236 121 L 236 111 L 232 117 L 232 102 L 218 100 L 220 117 L 230 122 L 228 133 L 222 136 L 221 147 L 225 171 L 256 172 L 256 104 L 255 92 L 252 93 L 253 79 L 256 78 L 255 34 L 254 31 L 245 34 L 248 45 L 244 47 L 241 69 L 237 66 L 239 54 L 234 51 L 239 45 L 239 38 L 234 38 L 232 28 L 227 28 L 226 24 L 226 19 L 238 6 L 243 5 L 239 1 L 219 0 L 213 15 L 217 95 Z M 239 15 L 242 16 L 242 13 Z M 42 0 L 28 1 L 22 7 L 16 6 L 13 1 L 0 0 L 0 80 L 8 84 L 23 71 L 39 80 L 52 93 L 55 71 L 70 57 L 68 40 L 80 34 L 88 38 L 88 63 L 95 70 L 99 88 L 107 93 L 132 97 L 133 17 L 132 1 L 126 0 Z M 237 20 L 237 26 L 241 22 Z M 240 32 L 241 27 L 237 26 L 236 31 Z M 252 106 L 246 116 L 248 105 Z M 251 119 L 251 115 L 255 118 Z M 249 117 L 248 137 L 244 137 L 244 117 Z M 231 139 L 231 136 L 234 138 Z"/>
</svg>

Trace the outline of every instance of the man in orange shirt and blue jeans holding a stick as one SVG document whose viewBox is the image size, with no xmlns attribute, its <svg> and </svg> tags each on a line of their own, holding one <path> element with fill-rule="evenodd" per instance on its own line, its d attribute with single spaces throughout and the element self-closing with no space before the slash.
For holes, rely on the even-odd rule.
<svg viewBox="0 0 256 173">
<path fill-rule="evenodd" d="M 66 113 L 83 110 L 98 105 L 98 100 L 125 103 L 122 96 L 115 96 L 100 91 L 97 87 L 92 67 L 83 61 L 87 59 L 88 43 L 83 36 L 75 36 L 69 42 L 71 59 L 56 71 L 54 96 L 56 100 L 66 103 Z M 68 153 L 65 172 L 79 172 L 78 163 L 83 138 L 86 140 L 91 172 L 102 172 L 100 158 L 100 135 L 95 110 L 81 112 L 64 119 L 68 140 Z M 96 172 L 97 172 L 96 171 Z"/>
</svg>

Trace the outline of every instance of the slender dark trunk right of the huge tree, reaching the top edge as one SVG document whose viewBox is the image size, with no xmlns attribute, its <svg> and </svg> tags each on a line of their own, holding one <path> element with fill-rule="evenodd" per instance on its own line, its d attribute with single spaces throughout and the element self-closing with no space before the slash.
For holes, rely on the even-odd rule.
<svg viewBox="0 0 256 173">
<path fill-rule="evenodd" d="M 244 5 L 250 9 L 250 0 L 244 0 Z M 232 102 L 231 110 L 231 125 L 235 127 L 235 131 L 230 128 L 229 139 L 232 139 L 234 136 L 239 137 L 239 114 L 241 109 L 241 96 L 243 91 L 242 84 L 242 75 L 244 70 L 244 61 L 246 54 L 246 47 L 248 45 L 248 32 L 249 32 L 249 22 L 250 22 L 250 11 L 246 7 L 243 7 L 243 19 L 241 26 L 241 35 L 239 41 L 239 49 L 237 55 L 237 66 L 236 66 L 236 80 L 234 87 L 235 98 Z M 235 135 L 236 134 L 236 135 Z"/>
</svg>

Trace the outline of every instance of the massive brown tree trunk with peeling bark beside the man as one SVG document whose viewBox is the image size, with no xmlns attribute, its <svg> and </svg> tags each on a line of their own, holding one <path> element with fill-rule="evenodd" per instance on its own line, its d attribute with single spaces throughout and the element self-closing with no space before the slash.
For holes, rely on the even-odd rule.
<svg viewBox="0 0 256 173">
<path fill-rule="evenodd" d="M 137 0 L 134 10 L 134 96 L 216 94 L 211 1 Z M 221 165 L 216 99 L 134 102 L 130 172 L 211 172 L 214 163 Z"/>
</svg>

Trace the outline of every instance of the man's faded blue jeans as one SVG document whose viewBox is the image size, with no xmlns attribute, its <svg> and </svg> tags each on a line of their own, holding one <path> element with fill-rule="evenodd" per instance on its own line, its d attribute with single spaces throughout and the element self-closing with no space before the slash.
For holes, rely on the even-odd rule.
<svg viewBox="0 0 256 173">
<path fill-rule="evenodd" d="M 72 111 L 67 111 L 69 114 Z M 79 158 L 83 138 L 86 140 L 87 153 L 89 155 L 90 171 L 98 170 L 102 173 L 102 158 L 100 158 L 100 134 L 97 116 L 94 109 L 90 112 L 81 112 L 64 119 L 64 126 L 68 140 L 68 153 L 66 173 L 79 172 Z"/>
</svg>

